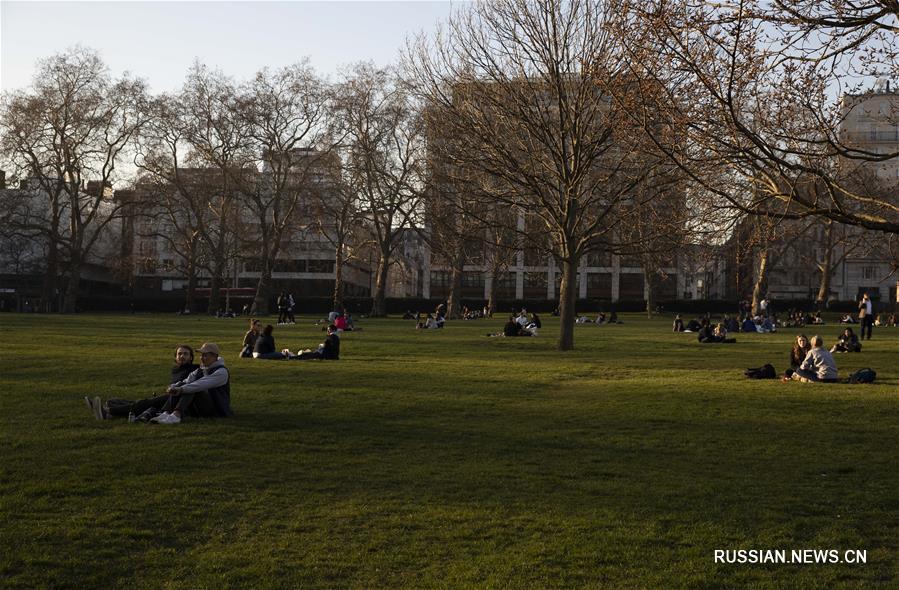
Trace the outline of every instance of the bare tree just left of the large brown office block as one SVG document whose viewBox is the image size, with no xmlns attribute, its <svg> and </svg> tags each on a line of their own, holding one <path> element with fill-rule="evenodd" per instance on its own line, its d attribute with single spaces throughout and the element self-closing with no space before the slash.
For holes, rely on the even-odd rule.
<svg viewBox="0 0 899 590">
<path fill-rule="evenodd" d="M 336 90 L 338 153 L 378 253 L 371 315 L 385 315 L 388 271 L 424 187 L 423 118 L 390 70 L 358 64 Z"/>
</svg>

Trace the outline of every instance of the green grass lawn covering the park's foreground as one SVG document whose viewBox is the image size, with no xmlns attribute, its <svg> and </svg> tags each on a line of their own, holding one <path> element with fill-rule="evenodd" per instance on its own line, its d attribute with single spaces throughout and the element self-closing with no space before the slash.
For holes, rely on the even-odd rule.
<svg viewBox="0 0 899 590">
<path fill-rule="evenodd" d="M 877 384 L 809 385 L 742 376 L 783 371 L 797 330 L 699 345 L 623 319 L 570 353 L 552 318 L 514 340 L 366 320 L 301 363 L 237 358 L 237 319 L 0 315 L 0 586 L 899 587 L 899 329 L 836 357 Z M 299 322 L 279 348 L 321 341 Z M 234 419 L 90 416 L 206 340 Z M 713 559 L 806 548 L 867 563 Z"/>
</svg>

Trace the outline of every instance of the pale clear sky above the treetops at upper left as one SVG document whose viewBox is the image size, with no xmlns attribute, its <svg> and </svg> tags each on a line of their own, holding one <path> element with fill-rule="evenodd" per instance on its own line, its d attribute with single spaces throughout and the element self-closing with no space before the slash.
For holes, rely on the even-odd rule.
<svg viewBox="0 0 899 590">
<path fill-rule="evenodd" d="M 457 3 L 458 4 L 458 3 Z M 30 84 L 35 62 L 76 44 L 114 75 L 153 92 L 179 88 L 195 58 L 238 80 L 308 57 L 333 75 L 342 65 L 395 60 L 407 35 L 431 31 L 443 2 L 38 2 L 0 0 L 0 89 Z"/>
</svg>

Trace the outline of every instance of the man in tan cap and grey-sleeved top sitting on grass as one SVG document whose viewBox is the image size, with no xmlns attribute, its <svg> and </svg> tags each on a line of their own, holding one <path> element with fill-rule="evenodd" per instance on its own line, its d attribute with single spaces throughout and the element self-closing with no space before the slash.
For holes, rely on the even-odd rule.
<svg viewBox="0 0 899 590">
<path fill-rule="evenodd" d="M 219 347 L 206 342 L 197 350 L 200 368 L 186 379 L 169 385 L 169 400 L 162 413 L 153 418 L 157 424 L 178 424 L 185 413 L 201 417 L 231 416 L 231 380 Z"/>
</svg>

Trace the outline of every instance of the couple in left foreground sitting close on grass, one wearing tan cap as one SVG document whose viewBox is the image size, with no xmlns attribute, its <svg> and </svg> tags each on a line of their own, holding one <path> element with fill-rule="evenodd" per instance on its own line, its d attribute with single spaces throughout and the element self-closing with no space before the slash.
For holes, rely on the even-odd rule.
<svg viewBox="0 0 899 590">
<path fill-rule="evenodd" d="M 231 379 L 218 345 L 207 342 L 197 352 L 199 365 L 194 364 L 193 348 L 178 345 L 164 395 L 136 402 L 113 398 L 103 403 L 99 397 L 84 401 L 98 420 L 128 416 L 132 422 L 178 424 L 187 416 L 231 416 Z"/>
</svg>

